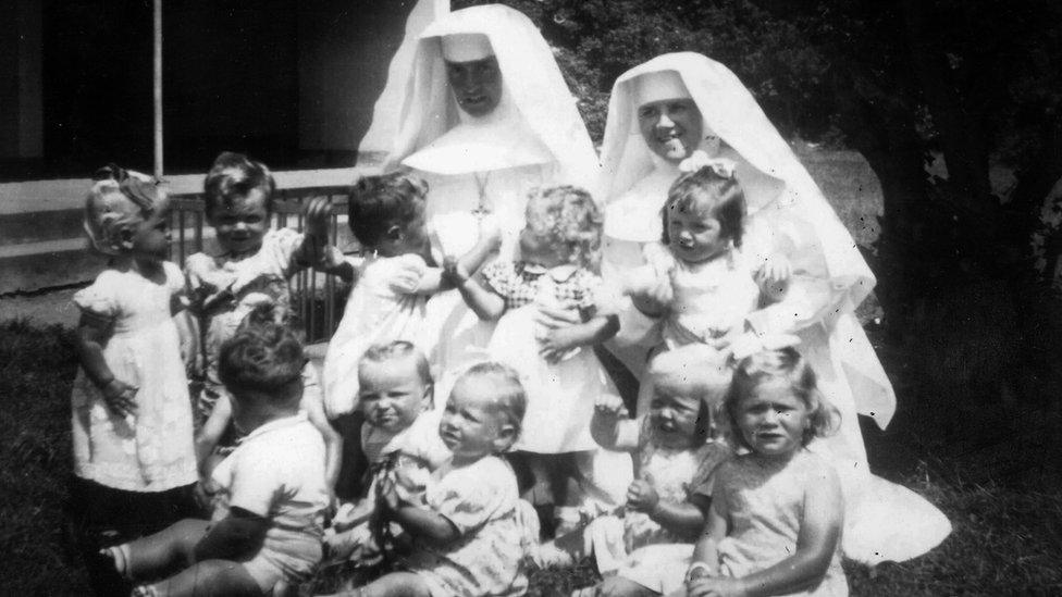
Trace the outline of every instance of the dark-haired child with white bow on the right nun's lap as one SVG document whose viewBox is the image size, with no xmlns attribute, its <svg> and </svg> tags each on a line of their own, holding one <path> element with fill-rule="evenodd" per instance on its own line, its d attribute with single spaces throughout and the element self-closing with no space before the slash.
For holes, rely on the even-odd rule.
<svg viewBox="0 0 1062 597">
<path fill-rule="evenodd" d="M 646 247 L 650 265 L 632 273 L 628 293 L 642 313 L 662 319 L 665 350 L 692 343 L 725 349 L 746 329 L 746 320 L 786 297 L 788 262 L 742 251 L 744 194 L 733 164 L 701 152 L 682 162 L 660 212 L 662 245 Z M 638 409 L 647 406 L 643 388 Z"/>
</svg>

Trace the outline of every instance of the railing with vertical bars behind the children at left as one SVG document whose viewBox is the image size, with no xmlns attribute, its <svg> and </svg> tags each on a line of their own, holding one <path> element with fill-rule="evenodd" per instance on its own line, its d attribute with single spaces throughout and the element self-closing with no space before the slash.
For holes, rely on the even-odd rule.
<svg viewBox="0 0 1062 597">
<path fill-rule="evenodd" d="M 332 200 L 332 215 L 329 222 L 329 242 L 339 246 L 344 252 L 341 236 L 341 215 L 346 214 L 349 187 L 306 187 L 277 189 L 273 199 L 273 228 L 292 227 L 301 231 L 304 225 L 302 206 L 316 197 Z M 173 242 L 170 259 L 184 269 L 188 256 L 202 251 L 212 237 L 212 231 L 203 231 L 206 213 L 202 194 L 173 195 L 171 229 Z M 345 220 L 345 219 L 344 219 Z M 306 343 L 325 341 L 332 337 L 338 325 L 346 300 L 344 284 L 336 276 L 302 270 L 295 274 L 292 284 L 292 307 L 306 332 Z"/>
</svg>

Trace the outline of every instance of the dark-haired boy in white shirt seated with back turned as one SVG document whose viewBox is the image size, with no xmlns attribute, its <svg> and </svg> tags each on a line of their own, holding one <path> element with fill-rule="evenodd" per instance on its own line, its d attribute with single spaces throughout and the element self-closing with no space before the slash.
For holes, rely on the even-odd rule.
<svg viewBox="0 0 1062 597">
<path fill-rule="evenodd" d="M 108 550 L 131 579 L 177 571 L 139 595 L 261 595 L 313 571 L 328 487 L 324 441 L 299 412 L 305 360 L 295 335 L 272 322 L 222 345 L 218 373 L 247 436 L 214 469 L 221 490 L 211 521 L 183 520 Z"/>
</svg>

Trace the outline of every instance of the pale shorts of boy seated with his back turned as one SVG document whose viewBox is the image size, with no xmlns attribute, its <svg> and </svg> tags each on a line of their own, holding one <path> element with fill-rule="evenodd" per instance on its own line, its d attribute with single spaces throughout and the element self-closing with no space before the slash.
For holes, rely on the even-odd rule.
<svg viewBox="0 0 1062 597">
<path fill-rule="evenodd" d="M 258 555 L 244 562 L 244 569 L 262 593 L 269 593 L 281 581 L 297 584 L 308 580 L 322 555 L 320 537 L 273 527 Z"/>
</svg>

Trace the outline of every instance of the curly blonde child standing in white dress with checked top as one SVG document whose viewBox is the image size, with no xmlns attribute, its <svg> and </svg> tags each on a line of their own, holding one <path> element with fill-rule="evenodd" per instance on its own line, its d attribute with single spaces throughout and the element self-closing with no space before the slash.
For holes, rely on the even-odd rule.
<svg viewBox="0 0 1062 597">
<path fill-rule="evenodd" d="M 460 268 L 449 271 L 472 311 L 486 321 L 501 318 L 487 350 L 520 372 L 528 391 L 516 446 L 524 456 L 517 462 L 526 461 L 543 484 L 548 480 L 553 503 L 567 507 L 556 515 L 568 524 L 578 507 L 596 513 L 598 505 L 620 503 L 630 482 L 623 476 L 629 460 L 614 459 L 604 471 L 609 457 L 590 435 L 595 401 L 617 395 L 591 347 L 612 337 L 617 322 L 597 310 L 602 220 L 590 194 L 571 186 L 533 190 L 526 221 L 520 261 L 495 261 L 482 284 Z M 578 309 L 582 323 L 547 328 L 539 322 L 540 309 L 557 307 Z M 568 478 L 578 480 L 580 495 L 567 495 Z"/>
</svg>

